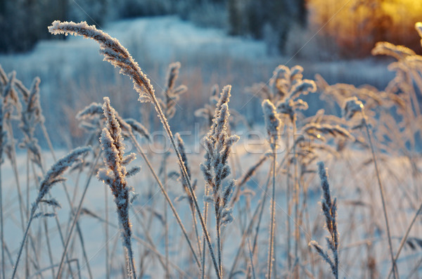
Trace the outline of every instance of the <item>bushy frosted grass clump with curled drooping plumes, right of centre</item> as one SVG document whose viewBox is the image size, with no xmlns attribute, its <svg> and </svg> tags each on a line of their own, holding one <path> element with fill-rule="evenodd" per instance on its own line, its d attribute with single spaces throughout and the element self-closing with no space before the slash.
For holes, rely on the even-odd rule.
<svg viewBox="0 0 422 279">
<path fill-rule="evenodd" d="M 344 120 L 335 115 L 325 115 L 324 109 L 305 117 L 305 113 L 309 115 L 309 112 L 306 112 L 309 108 L 306 96 L 316 92 L 317 88 L 316 83 L 312 79 L 304 79 L 302 73 L 303 68 L 300 65 L 279 65 L 267 84 L 255 84 L 250 89 L 262 99 L 268 99 L 275 104 L 277 115 L 284 124 L 280 133 L 280 144 L 283 143 L 286 152 L 279 160 L 281 162 L 278 171 L 286 174 L 286 260 L 288 270 L 293 271 L 294 278 L 300 277 L 300 253 L 302 248 L 305 248 L 301 245 L 302 235 L 308 238 L 307 242 L 310 240 L 309 234 L 303 228 L 303 222 L 307 214 L 307 176 L 314 172 L 312 162 L 321 156 L 338 156 L 332 142 L 340 144 L 354 141 L 354 136 L 344 127 Z M 306 254 L 304 256 L 307 257 Z"/>
</svg>

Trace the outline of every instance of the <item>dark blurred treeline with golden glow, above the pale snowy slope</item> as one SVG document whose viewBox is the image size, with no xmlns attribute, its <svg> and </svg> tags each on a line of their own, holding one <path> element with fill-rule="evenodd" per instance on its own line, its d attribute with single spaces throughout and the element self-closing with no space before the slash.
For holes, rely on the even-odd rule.
<svg viewBox="0 0 422 279">
<path fill-rule="evenodd" d="M 271 54 L 298 51 L 314 37 L 314 59 L 360 58 L 376 41 L 418 47 L 419 0 L 1 0 L 0 52 L 30 51 L 53 20 L 89 24 L 178 15 L 201 27 L 264 40 Z M 316 54 L 319 53 L 319 54 Z M 300 56 L 309 56 L 303 51 Z M 309 57 L 307 57 L 309 58 Z"/>
</svg>

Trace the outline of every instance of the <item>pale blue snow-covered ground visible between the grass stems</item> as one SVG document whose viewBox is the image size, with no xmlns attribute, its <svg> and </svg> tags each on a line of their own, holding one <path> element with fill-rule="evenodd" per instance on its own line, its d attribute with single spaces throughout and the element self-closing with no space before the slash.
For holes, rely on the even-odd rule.
<svg viewBox="0 0 422 279">
<path fill-rule="evenodd" d="M 188 149 L 194 150 L 194 147 L 187 146 Z M 252 152 L 251 152 L 252 150 Z M 234 162 L 232 164 L 234 173 L 236 177 L 242 176 L 242 174 L 247 171 L 247 169 L 258 160 L 260 154 L 264 153 L 267 150 L 267 145 L 261 143 L 250 144 L 250 142 L 245 143 L 245 139 L 242 139 L 238 143 L 238 147 L 234 150 Z M 130 151 L 130 150 L 128 150 Z M 65 151 L 58 151 L 58 155 L 65 154 Z M 49 166 L 53 163 L 51 155 L 49 153 L 44 153 L 46 158 L 46 165 Z M 149 156 L 149 155 L 148 155 Z M 283 153 L 281 153 L 281 156 Z M 382 219 L 382 209 L 381 209 L 381 200 L 378 195 L 378 189 L 376 185 L 376 177 L 373 176 L 373 168 L 368 166 L 366 168 L 359 169 L 359 165 L 362 162 L 368 160 L 371 157 L 370 154 L 360 152 L 357 150 L 350 151 L 345 150 L 343 152 L 343 157 L 341 160 L 328 157 L 326 158 L 326 167 L 328 167 L 329 181 L 331 184 L 332 195 L 338 198 L 338 223 L 339 223 L 339 232 L 340 232 L 340 241 L 341 241 L 341 250 L 340 250 L 340 267 L 341 274 L 344 274 L 346 278 L 362 278 L 362 273 L 359 271 L 359 266 L 362 266 L 362 261 L 366 261 L 366 245 L 373 245 L 373 249 L 378 254 L 378 271 L 381 272 L 381 276 L 385 276 L 390 266 L 390 261 L 388 258 L 388 247 L 385 245 L 385 231 L 383 229 L 383 219 Z M 150 159 L 153 164 L 157 167 L 160 165 L 161 156 L 151 155 Z M 189 164 L 191 165 L 192 177 L 200 181 L 198 183 L 197 195 L 198 197 L 203 196 L 203 182 L 202 174 L 199 170 L 199 163 L 203 161 L 203 155 L 201 154 L 188 154 Z M 25 172 L 26 156 L 25 154 L 20 154 L 18 156 L 18 169 Z M 153 182 L 153 179 L 148 174 L 145 164 L 141 160 L 136 160 L 134 165 L 140 165 L 143 168 L 142 174 L 136 175 L 133 179 L 129 179 L 129 184 L 134 187 L 136 193 L 139 193 L 139 197 L 134 203 L 134 209 L 139 213 L 141 222 L 148 223 L 148 216 L 153 212 L 155 218 L 150 225 L 147 224 L 147 229 L 151 233 L 155 245 L 160 252 L 164 254 L 165 245 L 164 239 L 162 238 L 162 223 L 160 219 L 162 218 L 162 194 L 158 186 Z M 264 165 L 257 171 L 252 179 L 245 186 L 251 193 L 252 196 L 250 200 L 250 208 L 253 212 L 255 207 L 257 207 L 257 201 L 262 197 L 262 193 L 265 188 L 265 181 L 267 180 L 269 162 L 264 163 Z M 385 196 L 387 197 L 388 208 L 390 209 L 390 222 L 393 224 L 391 226 L 393 242 L 395 247 L 398 246 L 401 235 L 404 234 L 404 230 L 407 228 L 409 220 L 414 215 L 414 209 L 410 206 L 410 202 L 416 202 L 413 198 L 403 198 L 402 202 L 399 205 L 392 204 L 392 200 L 395 200 L 398 196 L 405 196 L 404 193 L 411 193 L 413 190 L 411 186 L 411 174 L 409 174 L 409 164 L 404 158 L 396 157 L 383 157 L 383 169 L 381 171 L 381 179 L 385 183 Z M 171 155 L 168 163 L 168 171 L 177 171 L 177 161 L 174 155 Z M 13 178 L 13 171 L 10 167 L 10 164 L 6 164 L 2 167 L 2 173 L 4 174 L 2 178 L 3 187 L 4 187 L 4 200 L 5 204 L 5 239 L 10 249 L 12 259 L 15 259 L 16 249 L 20 239 L 22 238 L 22 231 L 20 229 L 20 217 L 18 214 L 18 198 L 17 190 L 15 185 L 15 180 Z M 76 202 L 79 202 L 82 188 L 84 187 L 84 181 L 87 177 L 82 175 L 79 181 L 79 186 L 75 186 L 75 178 L 77 177 L 76 173 L 66 174 L 65 177 L 69 179 L 66 183 L 70 193 L 73 193 L 75 187 L 77 190 Z M 276 240 L 276 250 L 278 251 L 277 257 L 277 268 L 279 268 L 282 275 L 286 274 L 286 220 L 288 218 L 287 205 L 286 205 L 286 176 L 279 174 L 277 179 L 277 188 L 276 188 L 276 223 L 277 223 L 277 235 L 279 237 Z M 394 178 L 394 179 L 391 179 Z M 307 189 L 307 212 L 305 222 L 300 226 L 301 234 L 303 238 L 309 237 L 312 235 L 312 239 L 322 242 L 326 235 L 326 231 L 323 226 L 323 216 L 321 216 L 321 209 L 319 205 L 319 200 L 321 198 L 321 190 L 319 188 L 319 179 L 315 174 L 308 176 L 309 188 Z M 32 178 L 31 181 L 34 181 Z M 25 186 L 25 175 L 21 174 L 20 176 L 21 187 L 23 188 L 24 197 L 26 197 L 26 186 Z M 397 183 L 401 183 L 402 187 L 397 188 Z M 172 200 L 174 200 L 174 205 L 176 205 L 177 210 L 181 216 L 181 219 L 184 221 L 184 224 L 188 231 L 191 231 L 191 216 L 188 212 L 188 207 L 186 206 L 186 200 L 181 202 L 176 202 L 177 197 L 183 194 L 183 190 L 180 185 L 180 181 L 171 181 L 168 185 L 169 193 Z M 33 200 L 36 196 L 35 186 L 31 183 L 31 195 L 30 199 Z M 372 189 L 372 190 L 371 190 Z M 372 193 L 369 193 L 371 191 Z M 110 195 L 109 189 L 100 181 L 97 181 L 96 178 L 93 178 L 90 186 L 87 191 L 87 196 L 85 197 L 83 208 L 89 209 L 90 212 L 93 212 L 101 219 L 105 219 L 105 204 L 104 204 L 104 195 L 108 193 L 108 214 L 110 223 L 117 224 L 117 216 L 115 213 L 115 205 L 113 199 Z M 61 203 L 62 208 L 58 210 L 58 217 L 60 223 L 63 226 L 63 229 L 67 228 L 66 223 L 69 219 L 70 208 L 68 202 L 66 201 L 63 187 L 58 184 L 53 187 L 51 190 L 53 197 Z M 371 200 L 372 199 L 372 200 Z M 200 199 L 201 200 L 201 199 Z M 241 203 L 236 205 L 234 216 L 236 218 L 234 223 L 229 224 L 224 228 L 224 266 L 227 268 L 225 274 L 229 273 L 229 268 L 233 263 L 238 245 L 241 241 L 241 229 L 242 226 L 245 226 L 243 219 L 243 214 L 240 210 L 243 210 L 245 207 L 245 197 L 242 197 Z M 371 216 L 368 216 L 366 208 L 371 204 L 375 204 L 374 210 L 376 219 L 375 223 L 371 222 Z M 269 222 L 269 214 L 267 213 L 267 208 L 269 208 L 269 193 L 267 193 L 267 205 L 264 209 L 264 219 L 263 224 L 260 229 L 260 240 L 259 240 L 259 261 L 257 261 L 255 268 L 260 271 L 265 270 L 266 260 L 267 259 L 267 235 L 269 233 L 267 223 Z M 362 210 L 362 211 L 361 211 Z M 51 211 L 51 210 L 50 210 Z M 251 213 L 252 213 L 251 212 Z M 401 212 L 401 213 L 397 213 Z M 242 217 L 243 216 L 243 217 Z M 145 231 L 139 225 L 139 219 L 136 219 L 133 212 L 131 212 L 131 218 L 134 223 L 134 235 L 139 236 L 142 240 L 146 240 Z M 190 275 L 191 278 L 195 278 L 197 271 L 194 269 L 195 266 L 192 266 L 192 259 L 190 258 L 190 252 L 186 245 L 184 238 L 181 236 L 181 231 L 174 221 L 174 217 L 171 212 L 169 212 L 170 218 L 170 261 L 172 264 L 181 268 L 185 271 L 187 275 Z M 239 219 L 241 218 L 241 219 Z M 212 220 L 212 219 L 210 219 Z M 398 226 L 402 223 L 402 226 Z M 106 235 L 104 223 L 98 221 L 98 219 L 93 218 L 87 214 L 82 214 L 79 221 L 82 235 L 84 237 L 84 247 L 87 250 L 87 257 L 89 259 L 89 264 L 94 278 L 104 278 L 105 277 L 105 253 L 106 253 Z M 42 231 L 41 226 L 37 225 L 37 222 L 34 222 L 32 225 L 32 233 L 37 239 L 37 245 L 40 245 L 40 251 L 43 251 L 43 254 L 40 254 L 42 266 L 41 268 L 46 268 L 49 266 L 49 259 L 47 257 L 46 250 L 46 239 L 45 233 Z M 369 238 L 366 235 L 368 226 L 373 226 L 376 230 L 375 238 Z M 60 239 L 58 238 L 58 231 L 56 223 L 53 219 L 48 219 L 49 227 L 49 238 L 53 247 L 53 256 L 54 261 L 59 261 L 60 254 L 62 252 L 62 246 Z M 211 226 L 212 228 L 213 226 Z M 111 275 L 113 278 L 121 278 L 122 273 L 118 269 L 122 262 L 123 251 L 120 244 L 120 235 L 115 230 L 115 228 L 109 228 L 108 244 L 110 249 L 113 249 L 112 252 L 112 261 L 113 261 L 113 271 Z M 420 224 L 416 224 L 414 228 L 414 233 L 418 232 L 421 229 Z M 191 231 L 192 232 L 192 231 Z M 353 233 L 350 233 L 353 232 Z M 75 232 L 76 233 L 76 232 Z M 193 232 L 192 232 L 193 233 Z M 414 233 L 411 236 L 416 236 Z M 211 230 L 211 235 L 215 235 L 215 231 Z M 192 235 L 192 238 L 194 236 Z M 76 238 L 79 239 L 79 238 Z M 250 240 L 252 241 L 252 240 Z M 82 278 L 88 278 L 87 266 L 84 264 L 84 260 L 81 254 L 79 240 L 75 241 L 74 244 L 75 257 L 79 258 L 79 267 L 81 268 Z M 322 244 L 321 244 L 322 245 Z M 136 258 L 140 260 L 141 252 L 146 251 L 145 247 L 139 242 L 134 240 L 134 249 L 139 253 L 136 253 Z M 411 257 L 414 254 L 412 250 L 405 249 L 401 260 L 399 261 L 399 270 L 402 274 L 407 274 L 404 266 L 409 264 L 414 266 L 417 261 L 417 257 Z M 383 256 L 384 255 L 384 256 Z M 406 257 L 407 256 L 407 257 Z M 410 256 L 410 257 L 409 257 Z M 152 254 L 146 257 L 146 266 L 145 274 L 143 278 L 161 278 L 164 276 L 162 273 L 163 270 L 158 263 L 158 261 L 151 259 L 155 258 Z M 357 259 L 361 260 L 357 260 Z M 302 259 L 304 263 L 307 263 L 309 259 Z M 240 264 L 243 265 L 245 259 L 241 259 Z M 324 266 L 324 263 L 319 263 L 316 261 L 318 266 Z M 24 261 L 21 262 L 23 265 Z M 190 263 L 190 264 L 189 264 Z M 75 269 L 76 266 L 74 267 Z M 190 269 L 193 268 L 193 269 Z M 238 270 L 238 268 L 236 269 Z M 324 272 L 328 272 L 323 268 Z M 240 269 L 238 271 L 241 271 Z M 234 278 L 243 278 L 244 273 L 238 273 Z M 174 276 L 178 276 L 176 269 L 172 268 L 172 273 Z M 50 271 L 44 271 L 44 275 L 48 278 Z M 211 273 L 212 274 L 212 273 Z M 261 273 L 262 274 L 262 273 Z M 328 274 L 328 273 L 325 273 Z M 77 274 L 74 274 L 74 276 Z M 263 275 L 263 274 L 262 274 Z M 184 278 L 188 278 L 186 274 Z M 183 276 L 182 276 L 183 277 Z M 74 277 L 77 278 L 77 277 Z M 414 277 L 416 278 L 416 277 Z"/>
</svg>

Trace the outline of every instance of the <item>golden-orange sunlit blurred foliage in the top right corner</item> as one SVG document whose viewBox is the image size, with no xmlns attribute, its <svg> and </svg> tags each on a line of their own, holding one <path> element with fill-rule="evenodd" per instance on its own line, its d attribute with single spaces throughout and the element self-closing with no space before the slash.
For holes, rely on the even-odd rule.
<svg viewBox="0 0 422 279">
<path fill-rule="evenodd" d="M 421 20 L 421 0 L 309 0 L 313 31 L 335 41 L 341 56 L 369 56 L 377 41 L 418 49 L 414 22 Z"/>
</svg>

